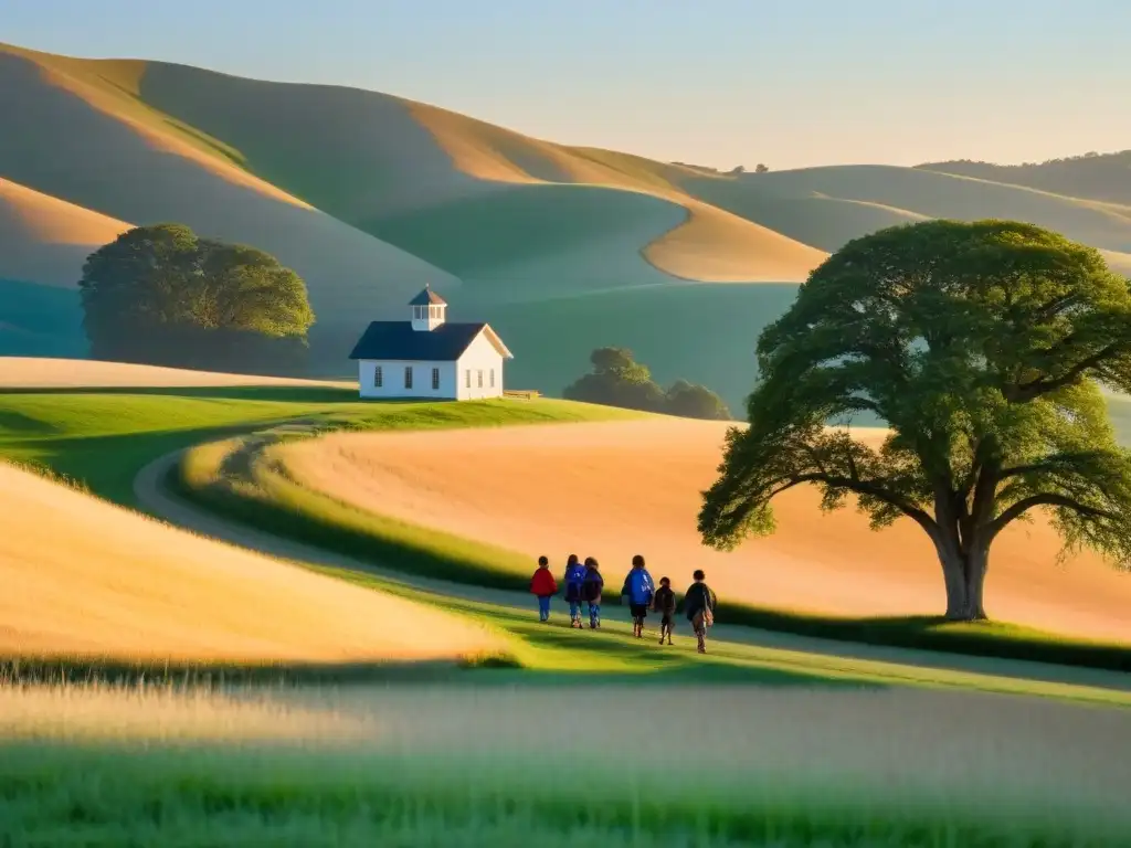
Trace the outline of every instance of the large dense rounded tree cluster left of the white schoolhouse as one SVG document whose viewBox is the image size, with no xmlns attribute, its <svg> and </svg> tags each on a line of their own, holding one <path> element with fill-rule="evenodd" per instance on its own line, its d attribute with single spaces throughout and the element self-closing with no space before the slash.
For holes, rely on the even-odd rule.
<svg viewBox="0 0 1131 848">
<path fill-rule="evenodd" d="M 269 253 L 181 224 L 135 227 L 92 253 L 79 282 L 95 358 L 181 367 L 301 367 L 314 313 Z"/>
</svg>

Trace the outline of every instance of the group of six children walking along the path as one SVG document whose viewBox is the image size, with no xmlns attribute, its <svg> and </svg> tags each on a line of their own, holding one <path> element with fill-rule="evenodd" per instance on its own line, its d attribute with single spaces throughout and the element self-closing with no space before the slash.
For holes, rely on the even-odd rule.
<svg viewBox="0 0 1131 848">
<path fill-rule="evenodd" d="M 701 570 L 692 574 L 694 582 L 683 595 L 683 613 L 691 622 L 691 628 L 699 642 L 699 652 L 707 652 L 707 628 L 715 623 L 715 592 L 705 582 Z M 587 556 L 585 562 L 578 561 L 577 554 L 570 554 L 566 562 L 566 573 L 562 578 L 566 602 L 569 604 L 571 628 L 582 628 L 581 607 L 588 605 L 589 629 L 601 626 L 601 596 L 605 580 L 601 576 L 601 565 Z M 538 620 L 550 621 L 550 599 L 558 594 L 558 580 L 550 570 L 550 560 L 538 557 L 538 569 L 530 579 L 530 591 L 538 598 Z M 624 578 L 621 596 L 628 598 L 629 612 L 632 615 L 632 635 L 644 638 L 644 620 L 648 611 L 657 612 L 659 618 L 659 643 L 666 640 L 672 643 L 672 620 L 675 616 L 675 592 L 672 581 L 662 577 L 659 588 L 653 582 L 651 574 L 645 568 L 644 557 L 637 554 L 632 557 L 632 569 Z"/>
</svg>

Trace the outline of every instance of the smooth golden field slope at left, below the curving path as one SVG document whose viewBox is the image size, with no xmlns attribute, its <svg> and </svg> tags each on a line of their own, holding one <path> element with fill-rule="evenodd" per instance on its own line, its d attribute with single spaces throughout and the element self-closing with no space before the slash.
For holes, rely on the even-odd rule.
<svg viewBox="0 0 1131 848">
<path fill-rule="evenodd" d="M 0 462 L 8 659 L 383 663 L 498 648 L 466 622 L 230 547 Z"/>
</svg>

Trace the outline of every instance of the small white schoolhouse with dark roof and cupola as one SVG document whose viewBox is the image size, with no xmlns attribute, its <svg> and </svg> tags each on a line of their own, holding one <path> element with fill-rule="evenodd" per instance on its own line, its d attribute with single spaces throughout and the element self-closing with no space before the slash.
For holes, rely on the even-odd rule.
<svg viewBox="0 0 1131 848">
<path fill-rule="evenodd" d="M 349 354 L 363 398 L 502 396 L 502 363 L 515 357 L 490 325 L 450 323 L 447 301 L 430 288 L 408 305 L 411 321 L 373 321 Z"/>
</svg>

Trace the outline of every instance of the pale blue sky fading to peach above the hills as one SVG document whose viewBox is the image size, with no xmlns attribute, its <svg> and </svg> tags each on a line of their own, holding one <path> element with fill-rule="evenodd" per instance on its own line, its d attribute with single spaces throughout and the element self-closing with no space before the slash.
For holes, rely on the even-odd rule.
<svg viewBox="0 0 1131 848">
<path fill-rule="evenodd" d="M 716 166 L 1131 147 L 1129 0 L 0 0 L 0 41 Z"/>
</svg>

